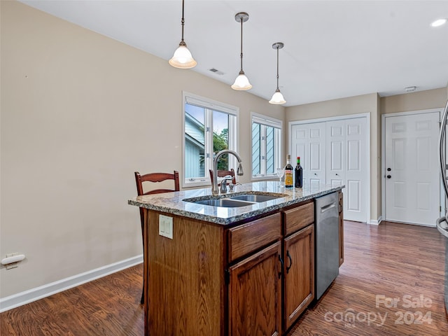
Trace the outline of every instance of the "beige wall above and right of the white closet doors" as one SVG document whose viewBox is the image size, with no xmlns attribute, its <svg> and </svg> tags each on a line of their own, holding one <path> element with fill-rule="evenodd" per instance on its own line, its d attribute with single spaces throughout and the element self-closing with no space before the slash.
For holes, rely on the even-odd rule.
<svg viewBox="0 0 448 336">
<path fill-rule="evenodd" d="M 358 113 L 370 113 L 370 220 L 377 221 L 381 216 L 381 118 L 379 116 L 379 98 L 376 93 L 356 97 L 333 99 L 326 102 L 290 106 L 286 108 L 286 125 L 297 120 L 346 116 Z M 289 132 L 289 130 L 288 130 Z M 286 139 L 289 139 L 289 134 Z M 288 144 L 286 145 L 288 146 Z M 379 169 L 379 170 L 378 170 Z"/>
</svg>

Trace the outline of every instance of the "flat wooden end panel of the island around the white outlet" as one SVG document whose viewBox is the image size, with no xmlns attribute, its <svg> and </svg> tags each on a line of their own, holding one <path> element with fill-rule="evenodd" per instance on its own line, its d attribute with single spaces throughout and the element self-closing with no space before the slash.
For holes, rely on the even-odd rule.
<svg viewBox="0 0 448 336">
<path fill-rule="evenodd" d="M 225 335 L 224 229 L 145 209 L 145 335 Z M 159 215 L 173 238 L 159 235 Z"/>
</svg>

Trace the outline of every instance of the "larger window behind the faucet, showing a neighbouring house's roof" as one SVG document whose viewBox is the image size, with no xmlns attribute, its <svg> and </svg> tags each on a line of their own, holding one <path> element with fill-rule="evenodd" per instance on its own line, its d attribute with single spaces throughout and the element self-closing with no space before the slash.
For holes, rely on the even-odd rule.
<svg viewBox="0 0 448 336">
<path fill-rule="evenodd" d="M 183 187 L 211 183 L 214 155 L 223 149 L 237 151 L 238 109 L 183 92 Z M 221 156 L 218 169 L 235 169 L 235 158 Z"/>
</svg>

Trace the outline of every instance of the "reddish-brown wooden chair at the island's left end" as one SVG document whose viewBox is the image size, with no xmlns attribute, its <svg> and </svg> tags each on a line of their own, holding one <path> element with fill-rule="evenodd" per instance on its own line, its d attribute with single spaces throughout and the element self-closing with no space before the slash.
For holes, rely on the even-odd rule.
<svg viewBox="0 0 448 336">
<path fill-rule="evenodd" d="M 179 172 L 174 171 L 174 174 L 168 174 L 168 173 L 150 173 L 150 174 L 144 174 L 140 175 L 139 172 L 135 172 L 135 183 L 137 184 L 137 195 L 151 195 L 151 194 L 160 194 L 160 193 L 171 193 L 172 191 L 179 191 Z M 153 182 L 158 183 L 162 181 L 167 180 L 174 180 L 174 189 L 153 189 L 149 190 L 146 193 L 144 193 L 143 190 L 143 183 L 144 182 Z M 141 240 L 143 241 L 143 258 L 145 260 L 145 241 L 144 241 L 144 209 L 140 208 L 140 222 L 141 222 Z M 143 281 L 143 288 L 146 286 L 146 276 L 144 276 Z M 141 300 L 140 303 L 144 303 L 144 290 L 141 293 Z"/>
</svg>

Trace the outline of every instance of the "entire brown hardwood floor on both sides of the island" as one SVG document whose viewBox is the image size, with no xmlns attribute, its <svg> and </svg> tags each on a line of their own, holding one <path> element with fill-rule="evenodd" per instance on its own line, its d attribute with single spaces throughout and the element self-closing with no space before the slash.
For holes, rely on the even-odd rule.
<svg viewBox="0 0 448 336">
<path fill-rule="evenodd" d="M 445 241 L 435 228 L 346 221 L 344 242 L 339 276 L 288 336 L 448 335 Z M 0 335 L 144 335 L 142 268 L 5 311 Z"/>
</svg>

